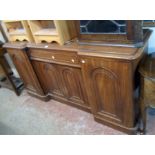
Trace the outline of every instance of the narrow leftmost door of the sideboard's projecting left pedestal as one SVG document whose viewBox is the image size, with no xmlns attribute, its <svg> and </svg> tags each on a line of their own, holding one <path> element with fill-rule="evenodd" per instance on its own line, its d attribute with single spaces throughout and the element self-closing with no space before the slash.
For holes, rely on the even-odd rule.
<svg viewBox="0 0 155 155">
<path fill-rule="evenodd" d="M 44 93 L 33 71 L 26 51 L 14 49 L 8 49 L 7 51 L 10 54 L 13 63 L 15 64 L 15 67 L 24 82 L 25 87 L 30 91 L 43 95 Z"/>
</svg>

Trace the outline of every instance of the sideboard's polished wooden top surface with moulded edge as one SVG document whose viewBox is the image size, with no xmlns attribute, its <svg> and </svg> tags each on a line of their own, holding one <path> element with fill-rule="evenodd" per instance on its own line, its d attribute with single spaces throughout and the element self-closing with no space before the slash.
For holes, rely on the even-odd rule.
<svg viewBox="0 0 155 155">
<path fill-rule="evenodd" d="M 148 39 L 151 35 L 151 31 L 147 31 L 144 37 L 144 46 L 141 48 L 130 47 L 130 46 L 116 46 L 114 45 L 104 45 L 104 46 L 92 46 L 92 45 L 79 45 L 76 41 L 70 42 L 65 45 L 49 44 L 49 43 L 27 43 L 27 42 L 17 42 L 17 43 L 5 43 L 4 48 L 33 48 L 33 49 L 45 49 L 45 50 L 59 50 L 59 51 L 72 51 L 77 52 L 78 55 L 86 56 L 96 56 L 96 57 L 106 57 L 115 58 L 123 60 L 135 60 L 138 59 L 142 54 L 143 49 L 147 46 Z"/>
</svg>

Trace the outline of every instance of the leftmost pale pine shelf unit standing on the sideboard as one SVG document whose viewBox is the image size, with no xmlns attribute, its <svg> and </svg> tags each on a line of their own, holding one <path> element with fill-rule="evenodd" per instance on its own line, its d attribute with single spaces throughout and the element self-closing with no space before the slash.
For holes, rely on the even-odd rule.
<svg viewBox="0 0 155 155">
<path fill-rule="evenodd" d="M 33 42 L 33 36 L 25 20 L 3 20 L 3 29 L 10 42 Z"/>
</svg>

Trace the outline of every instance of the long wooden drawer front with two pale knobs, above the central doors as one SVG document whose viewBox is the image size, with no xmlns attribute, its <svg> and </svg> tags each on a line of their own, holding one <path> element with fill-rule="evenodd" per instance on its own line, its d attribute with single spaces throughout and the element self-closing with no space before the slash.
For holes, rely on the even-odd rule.
<svg viewBox="0 0 155 155">
<path fill-rule="evenodd" d="M 52 62 L 79 64 L 77 53 L 70 51 L 30 49 L 30 57 L 51 60 Z"/>
</svg>

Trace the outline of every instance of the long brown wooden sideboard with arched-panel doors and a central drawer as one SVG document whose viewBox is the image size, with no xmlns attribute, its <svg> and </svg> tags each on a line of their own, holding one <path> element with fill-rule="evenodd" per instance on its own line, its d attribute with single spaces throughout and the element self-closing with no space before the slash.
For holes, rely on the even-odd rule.
<svg viewBox="0 0 155 155">
<path fill-rule="evenodd" d="M 139 105 L 136 70 L 147 53 L 129 45 L 6 43 L 30 95 L 50 98 L 93 114 L 100 123 L 135 134 Z"/>
</svg>

